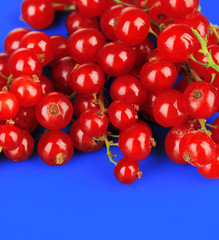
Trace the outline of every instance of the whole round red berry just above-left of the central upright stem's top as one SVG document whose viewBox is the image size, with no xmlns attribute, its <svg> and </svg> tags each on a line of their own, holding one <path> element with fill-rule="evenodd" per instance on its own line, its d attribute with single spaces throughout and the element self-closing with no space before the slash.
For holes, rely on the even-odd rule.
<svg viewBox="0 0 219 240">
<path fill-rule="evenodd" d="M 101 68 L 94 63 L 87 63 L 75 68 L 70 76 L 70 84 L 80 95 L 98 93 L 104 86 L 105 76 Z"/>
</svg>

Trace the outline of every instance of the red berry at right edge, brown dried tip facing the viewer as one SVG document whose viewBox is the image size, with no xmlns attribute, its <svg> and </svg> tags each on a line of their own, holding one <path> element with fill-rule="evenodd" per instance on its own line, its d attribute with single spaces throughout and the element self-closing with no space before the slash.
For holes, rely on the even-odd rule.
<svg viewBox="0 0 219 240">
<path fill-rule="evenodd" d="M 183 94 L 186 112 L 195 118 L 209 118 L 218 109 L 218 93 L 206 82 L 193 82 Z"/>
</svg>

